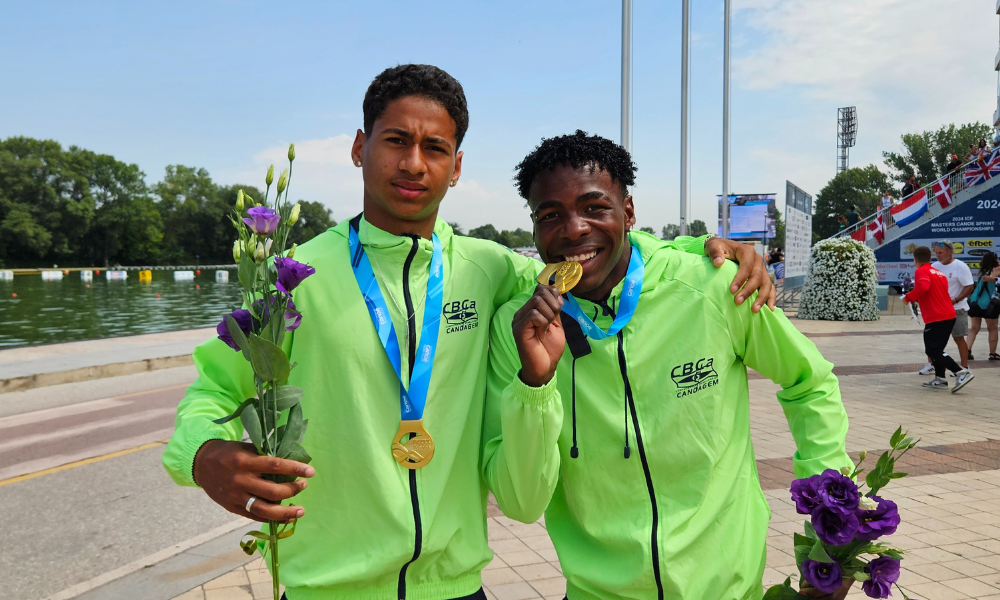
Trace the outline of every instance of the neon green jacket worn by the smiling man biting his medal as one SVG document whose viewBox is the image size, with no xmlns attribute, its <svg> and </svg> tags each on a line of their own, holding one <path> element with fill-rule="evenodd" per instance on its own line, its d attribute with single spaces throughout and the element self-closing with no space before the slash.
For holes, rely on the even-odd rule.
<svg viewBox="0 0 1000 600">
<path fill-rule="evenodd" d="M 750 440 L 747 367 L 782 387 L 798 477 L 850 464 L 837 378 L 780 310 L 755 315 L 749 300 L 733 303 L 735 267 L 665 252 L 643 233 L 631 240 L 645 259 L 636 313 L 618 336 L 589 340 L 589 355 L 567 349 L 546 386 L 517 377 L 509 323 L 531 293 L 497 312 L 485 478 L 508 516 L 530 522 L 545 511 L 570 600 L 760 598 L 770 511 Z M 602 312 L 579 303 L 592 318 Z M 605 331 L 611 321 L 595 319 Z M 505 411 L 525 397 L 562 404 L 564 422 L 546 423 L 548 447 L 505 465 L 497 461 L 512 459 Z"/>
</svg>

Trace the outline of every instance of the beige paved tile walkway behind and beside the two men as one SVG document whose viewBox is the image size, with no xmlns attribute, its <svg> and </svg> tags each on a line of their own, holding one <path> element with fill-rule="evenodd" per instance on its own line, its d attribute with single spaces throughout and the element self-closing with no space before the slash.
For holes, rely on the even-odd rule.
<svg viewBox="0 0 1000 600">
<path fill-rule="evenodd" d="M 884 449 L 897 425 L 920 436 L 900 463 L 910 477 L 886 495 L 903 524 L 890 539 L 908 551 L 900 583 L 910 596 L 930 600 L 1000 600 L 1000 369 L 974 362 L 976 379 L 958 394 L 925 390 L 914 372 L 923 362 L 921 326 L 904 316 L 875 323 L 794 321 L 837 365 L 851 418 L 847 448 Z M 985 336 L 977 352 L 985 355 Z M 982 344 L 982 347 L 979 347 Z M 953 347 L 952 347 L 953 349 Z M 753 375 L 753 374 L 751 374 Z M 791 534 L 802 527 L 788 496 L 795 451 L 776 386 L 751 377 L 751 426 L 765 496 L 773 515 L 764 583 L 796 572 Z M 872 459 L 869 459 L 872 460 Z M 490 546 L 496 553 L 483 573 L 487 596 L 497 600 L 562 598 L 565 581 L 545 533 L 544 520 L 525 525 L 489 510 Z M 255 559 L 176 600 L 270 598 L 270 579 Z M 896 594 L 898 596 L 898 594 Z M 851 598 L 864 598 L 860 586 Z M 895 596 L 894 596 L 895 597 Z"/>
</svg>

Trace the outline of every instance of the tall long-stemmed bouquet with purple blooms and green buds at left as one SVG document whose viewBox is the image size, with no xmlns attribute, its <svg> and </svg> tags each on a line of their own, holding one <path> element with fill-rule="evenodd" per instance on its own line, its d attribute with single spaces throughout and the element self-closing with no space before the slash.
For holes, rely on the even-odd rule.
<svg viewBox="0 0 1000 600">
<path fill-rule="evenodd" d="M 268 206 L 268 196 L 274 181 L 274 165 L 267 170 L 267 190 L 259 204 L 243 190 L 236 195 L 236 208 L 230 220 L 237 231 L 233 258 L 239 265 L 244 308 L 226 315 L 216 331 L 219 339 L 242 352 L 249 361 L 257 395 L 244 400 L 233 414 L 215 422 L 239 419 L 259 454 L 308 463 L 312 459 L 302 447 L 307 423 L 299 404 L 302 389 L 285 385 L 295 365 L 289 363 L 281 349 L 285 332 L 294 331 L 302 322 L 292 300 L 292 290 L 315 273 L 312 267 L 292 258 L 295 244 L 285 251 L 288 232 L 299 217 L 299 205 L 288 204 L 294 160 L 292 144 L 288 147 L 288 168 L 278 177 L 273 206 Z M 287 475 L 263 477 L 276 483 L 295 479 Z M 294 521 L 290 524 L 269 521 L 266 531 L 263 528 L 250 531 L 240 542 L 248 555 L 260 550 L 265 558 L 270 556 L 274 600 L 279 599 L 278 540 L 294 532 Z"/>
</svg>

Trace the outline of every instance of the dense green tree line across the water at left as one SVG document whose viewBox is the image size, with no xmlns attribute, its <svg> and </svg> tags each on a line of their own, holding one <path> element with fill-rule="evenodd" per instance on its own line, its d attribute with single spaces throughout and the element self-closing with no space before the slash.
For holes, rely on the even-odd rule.
<svg viewBox="0 0 1000 600">
<path fill-rule="evenodd" d="M 0 266 L 228 264 L 236 192 L 208 171 L 170 165 L 145 181 L 138 165 L 52 140 L 0 140 Z M 320 202 L 302 204 L 289 240 L 335 225 Z"/>
</svg>

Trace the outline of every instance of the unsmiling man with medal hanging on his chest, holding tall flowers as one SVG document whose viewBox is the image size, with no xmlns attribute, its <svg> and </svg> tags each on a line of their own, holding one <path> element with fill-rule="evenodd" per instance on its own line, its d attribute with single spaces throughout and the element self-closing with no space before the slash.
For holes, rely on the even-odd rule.
<svg viewBox="0 0 1000 600">
<path fill-rule="evenodd" d="M 284 344 L 297 363 L 288 383 L 304 390 L 312 463 L 257 456 L 239 442 L 238 420 L 213 421 L 254 394 L 248 363 L 218 339 L 194 352 L 199 377 L 178 407 L 163 463 L 177 483 L 201 486 L 238 515 L 301 518 L 281 542 L 289 600 L 482 599 L 480 571 L 492 558 L 478 464 L 489 324 L 498 307 L 534 287 L 542 265 L 455 236 L 437 216 L 461 175 L 469 123 L 454 78 L 429 65 L 386 69 L 363 111 L 351 155 L 362 169 L 364 213 L 295 255 L 316 269 L 295 290 L 307 318 Z M 703 252 L 703 240 L 679 243 Z M 741 298 L 761 284 L 771 289 L 752 250 L 707 245 L 720 264 L 739 252 L 748 263 L 741 272 L 754 269 Z M 389 324 L 377 330 L 373 316 L 385 314 L 392 329 L 383 340 Z M 509 428 L 531 438 L 544 425 L 525 419 L 523 429 Z M 407 442 L 406 428 L 433 440 L 433 456 L 393 452 Z M 307 479 L 278 484 L 264 474 Z M 293 496 L 300 506 L 281 504 Z"/>
</svg>

